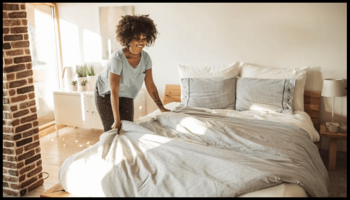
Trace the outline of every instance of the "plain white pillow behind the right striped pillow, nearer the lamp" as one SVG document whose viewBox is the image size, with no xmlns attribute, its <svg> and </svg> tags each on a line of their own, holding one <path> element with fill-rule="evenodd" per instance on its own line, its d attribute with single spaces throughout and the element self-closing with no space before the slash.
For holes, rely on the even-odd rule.
<svg viewBox="0 0 350 200">
<path fill-rule="evenodd" d="M 308 66 L 300 68 L 270 68 L 254 66 L 244 62 L 240 62 L 239 66 L 241 66 L 241 77 L 296 79 L 293 109 L 304 111 L 304 88 L 306 82 L 305 69 L 307 69 Z"/>
</svg>

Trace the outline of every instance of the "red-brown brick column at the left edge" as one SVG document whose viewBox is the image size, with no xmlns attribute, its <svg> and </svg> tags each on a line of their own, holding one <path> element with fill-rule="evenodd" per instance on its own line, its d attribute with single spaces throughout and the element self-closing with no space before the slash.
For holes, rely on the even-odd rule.
<svg viewBox="0 0 350 200">
<path fill-rule="evenodd" d="M 2 192 L 43 183 L 25 3 L 2 3 Z"/>
</svg>

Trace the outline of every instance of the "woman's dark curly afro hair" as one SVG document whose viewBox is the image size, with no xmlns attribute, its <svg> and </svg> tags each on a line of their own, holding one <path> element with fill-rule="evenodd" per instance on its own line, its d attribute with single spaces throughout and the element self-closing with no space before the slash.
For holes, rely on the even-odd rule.
<svg viewBox="0 0 350 200">
<path fill-rule="evenodd" d="M 128 46 L 133 38 L 138 38 L 141 33 L 146 36 L 146 46 L 154 43 L 158 31 L 153 20 L 147 15 L 125 15 L 121 16 L 115 28 L 116 40 L 122 46 Z"/>
</svg>

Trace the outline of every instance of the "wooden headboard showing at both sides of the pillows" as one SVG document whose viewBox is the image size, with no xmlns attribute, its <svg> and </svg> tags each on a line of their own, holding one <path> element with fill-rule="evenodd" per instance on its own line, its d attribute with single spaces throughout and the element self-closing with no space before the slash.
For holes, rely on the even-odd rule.
<svg viewBox="0 0 350 200">
<path fill-rule="evenodd" d="M 179 84 L 165 85 L 163 104 L 169 102 L 181 102 L 181 87 Z M 304 110 L 310 115 L 313 126 L 319 132 L 319 100 L 321 92 L 319 91 L 304 91 Z"/>
</svg>

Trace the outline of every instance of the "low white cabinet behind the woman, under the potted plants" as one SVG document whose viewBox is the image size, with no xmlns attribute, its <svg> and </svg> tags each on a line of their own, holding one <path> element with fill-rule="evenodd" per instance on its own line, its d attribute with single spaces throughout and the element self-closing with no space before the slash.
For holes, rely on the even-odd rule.
<svg viewBox="0 0 350 200">
<path fill-rule="evenodd" d="M 58 124 L 103 129 L 93 91 L 53 91 L 54 118 Z M 145 91 L 134 99 L 134 121 L 146 115 Z"/>
</svg>

